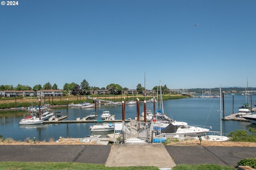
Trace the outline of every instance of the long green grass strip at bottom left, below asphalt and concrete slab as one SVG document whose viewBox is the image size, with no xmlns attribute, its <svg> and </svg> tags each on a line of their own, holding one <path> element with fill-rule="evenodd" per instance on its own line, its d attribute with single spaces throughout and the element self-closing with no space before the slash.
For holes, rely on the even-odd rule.
<svg viewBox="0 0 256 170">
<path fill-rule="evenodd" d="M 0 170 L 158 170 L 154 166 L 106 167 L 74 162 L 1 162 Z"/>
</svg>

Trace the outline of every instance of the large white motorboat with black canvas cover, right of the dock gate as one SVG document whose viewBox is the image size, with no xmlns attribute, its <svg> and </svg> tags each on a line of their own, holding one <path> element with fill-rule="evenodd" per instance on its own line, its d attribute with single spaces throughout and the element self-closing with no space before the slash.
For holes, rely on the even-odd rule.
<svg viewBox="0 0 256 170">
<path fill-rule="evenodd" d="M 202 127 L 189 126 L 186 122 L 174 121 L 161 131 L 156 131 L 156 136 L 162 137 L 173 137 L 174 135 L 179 136 L 202 136 L 210 129 Z"/>
</svg>

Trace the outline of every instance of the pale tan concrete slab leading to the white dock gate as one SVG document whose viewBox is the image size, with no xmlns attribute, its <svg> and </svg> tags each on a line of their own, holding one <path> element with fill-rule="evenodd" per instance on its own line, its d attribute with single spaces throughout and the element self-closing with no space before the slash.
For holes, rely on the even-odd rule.
<svg viewBox="0 0 256 170">
<path fill-rule="evenodd" d="M 175 166 L 164 145 L 113 145 L 106 166 Z"/>
</svg>

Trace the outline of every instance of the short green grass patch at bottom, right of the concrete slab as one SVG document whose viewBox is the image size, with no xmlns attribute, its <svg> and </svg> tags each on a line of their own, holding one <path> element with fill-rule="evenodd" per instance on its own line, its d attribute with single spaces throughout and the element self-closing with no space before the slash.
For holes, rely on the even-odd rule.
<svg viewBox="0 0 256 170">
<path fill-rule="evenodd" d="M 214 164 L 188 165 L 182 164 L 172 168 L 172 170 L 235 170 L 233 166 L 223 166 Z"/>
</svg>

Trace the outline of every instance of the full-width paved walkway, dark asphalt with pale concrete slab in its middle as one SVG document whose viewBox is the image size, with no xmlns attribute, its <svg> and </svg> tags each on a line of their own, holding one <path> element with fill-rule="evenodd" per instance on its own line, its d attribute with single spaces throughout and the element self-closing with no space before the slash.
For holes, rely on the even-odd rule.
<svg viewBox="0 0 256 170">
<path fill-rule="evenodd" d="M 1 161 L 82 162 L 106 166 L 157 166 L 219 164 L 237 166 L 255 158 L 256 147 L 178 147 L 148 145 L 0 145 Z"/>
</svg>

